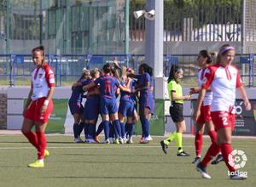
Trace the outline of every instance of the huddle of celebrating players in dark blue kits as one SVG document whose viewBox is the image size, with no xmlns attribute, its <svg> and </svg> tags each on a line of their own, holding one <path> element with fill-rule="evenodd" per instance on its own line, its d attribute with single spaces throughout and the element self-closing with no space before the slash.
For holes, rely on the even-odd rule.
<svg viewBox="0 0 256 187">
<path fill-rule="evenodd" d="M 102 71 L 97 68 L 90 71 L 84 69 L 79 80 L 73 83 L 72 95 L 68 101 L 74 118 L 74 142 L 99 143 L 98 136 L 104 130 L 103 143 L 133 143 L 133 125 L 138 121 L 137 98 L 143 127 L 140 143 L 152 140 L 149 133 L 149 120 L 154 110 L 151 77 L 152 68 L 147 64 L 139 66 L 138 75 L 131 68 L 119 67 L 116 61 L 113 65 L 103 65 Z M 84 97 L 86 102 L 83 106 Z M 98 116 L 102 117 L 102 122 L 96 130 Z M 80 138 L 83 130 L 84 141 Z"/>
</svg>

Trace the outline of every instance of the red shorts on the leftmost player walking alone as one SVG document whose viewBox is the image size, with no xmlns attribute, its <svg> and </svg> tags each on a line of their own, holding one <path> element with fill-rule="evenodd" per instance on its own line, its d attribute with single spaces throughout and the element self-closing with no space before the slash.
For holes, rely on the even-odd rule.
<svg viewBox="0 0 256 187">
<path fill-rule="evenodd" d="M 37 100 L 33 100 L 32 104 L 28 106 L 28 109 L 26 110 L 24 117 L 26 119 L 30 119 L 33 122 L 48 122 L 49 116 L 51 112 L 53 111 L 53 102 L 52 100 L 49 100 L 49 104 L 47 106 L 46 111 L 44 112 L 44 115 L 41 115 L 41 107 L 44 105 L 44 100 L 46 98 L 40 98 Z"/>
</svg>

